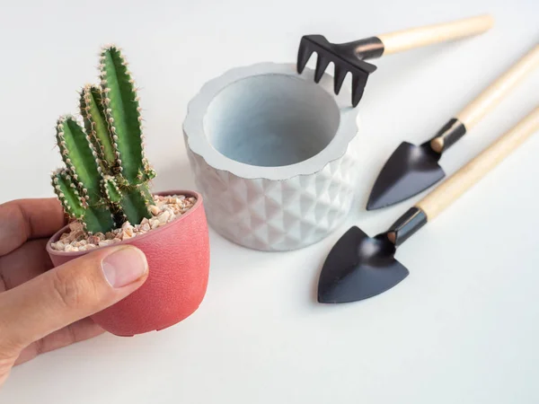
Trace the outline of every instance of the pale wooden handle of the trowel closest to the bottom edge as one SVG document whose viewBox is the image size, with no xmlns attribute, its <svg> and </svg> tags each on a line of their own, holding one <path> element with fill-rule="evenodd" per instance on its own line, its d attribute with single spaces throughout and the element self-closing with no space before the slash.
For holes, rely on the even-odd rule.
<svg viewBox="0 0 539 404">
<path fill-rule="evenodd" d="M 516 127 L 499 137 L 482 154 L 473 158 L 448 180 L 442 182 L 437 189 L 421 199 L 416 207 L 419 207 L 427 215 L 428 220 L 432 220 L 463 195 L 466 190 L 472 188 L 473 184 L 481 180 L 487 172 L 511 154 L 519 145 L 522 145 L 536 130 L 539 130 L 539 107 L 536 107 L 525 119 L 518 122 Z"/>
</svg>

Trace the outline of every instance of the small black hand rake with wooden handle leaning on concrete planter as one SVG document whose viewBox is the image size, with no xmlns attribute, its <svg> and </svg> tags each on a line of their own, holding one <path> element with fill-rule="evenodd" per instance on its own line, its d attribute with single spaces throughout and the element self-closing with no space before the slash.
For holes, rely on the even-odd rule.
<svg viewBox="0 0 539 404">
<path fill-rule="evenodd" d="M 335 69 L 334 92 L 337 94 L 340 92 L 346 75 L 350 73 L 352 75 L 352 105 L 356 107 L 363 96 L 368 75 L 376 70 L 376 66 L 367 63 L 365 59 L 470 37 L 490 30 L 492 25 L 493 19 L 490 15 L 480 15 L 346 43 L 331 43 L 323 35 L 304 35 L 297 50 L 297 73 L 303 72 L 309 58 L 315 52 L 317 60 L 314 82 L 320 82 L 323 72 L 332 62 Z"/>
</svg>

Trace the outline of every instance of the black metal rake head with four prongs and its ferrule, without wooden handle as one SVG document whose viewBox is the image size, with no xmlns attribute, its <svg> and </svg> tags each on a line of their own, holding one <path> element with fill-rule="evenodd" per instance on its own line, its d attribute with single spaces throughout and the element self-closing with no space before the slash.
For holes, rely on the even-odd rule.
<svg viewBox="0 0 539 404">
<path fill-rule="evenodd" d="M 352 105 L 356 107 L 365 91 L 368 75 L 376 71 L 376 66 L 365 62 L 363 58 L 380 56 L 384 51 L 381 44 L 382 42 L 377 38 L 334 44 L 326 40 L 323 35 L 305 35 L 299 43 L 297 52 L 297 73 L 301 75 L 313 53 L 316 53 L 314 82 L 318 83 L 332 62 L 335 69 L 334 92 L 339 94 L 346 75 L 350 73 L 352 75 Z"/>
</svg>

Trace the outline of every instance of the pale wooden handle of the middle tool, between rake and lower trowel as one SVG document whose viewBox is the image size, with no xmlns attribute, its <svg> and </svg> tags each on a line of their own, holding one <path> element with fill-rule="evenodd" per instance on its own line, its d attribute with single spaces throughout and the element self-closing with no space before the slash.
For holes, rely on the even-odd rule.
<svg viewBox="0 0 539 404">
<path fill-rule="evenodd" d="M 500 75 L 494 83 L 491 83 L 464 110 L 456 114 L 455 118 L 464 124 L 466 131 L 469 131 L 537 66 L 539 66 L 539 45 L 535 45 L 535 48 L 529 50 L 515 65 L 511 66 L 503 75 Z"/>
</svg>

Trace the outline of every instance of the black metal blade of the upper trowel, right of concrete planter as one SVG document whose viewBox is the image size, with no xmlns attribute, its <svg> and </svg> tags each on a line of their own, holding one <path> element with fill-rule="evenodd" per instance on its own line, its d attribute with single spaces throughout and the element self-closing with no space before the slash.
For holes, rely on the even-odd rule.
<svg viewBox="0 0 539 404">
<path fill-rule="evenodd" d="M 367 202 L 367 210 L 391 206 L 418 195 L 442 180 L 440 154 L 429 145 L 402 142 L 385 162 Z"/>
</svg>

